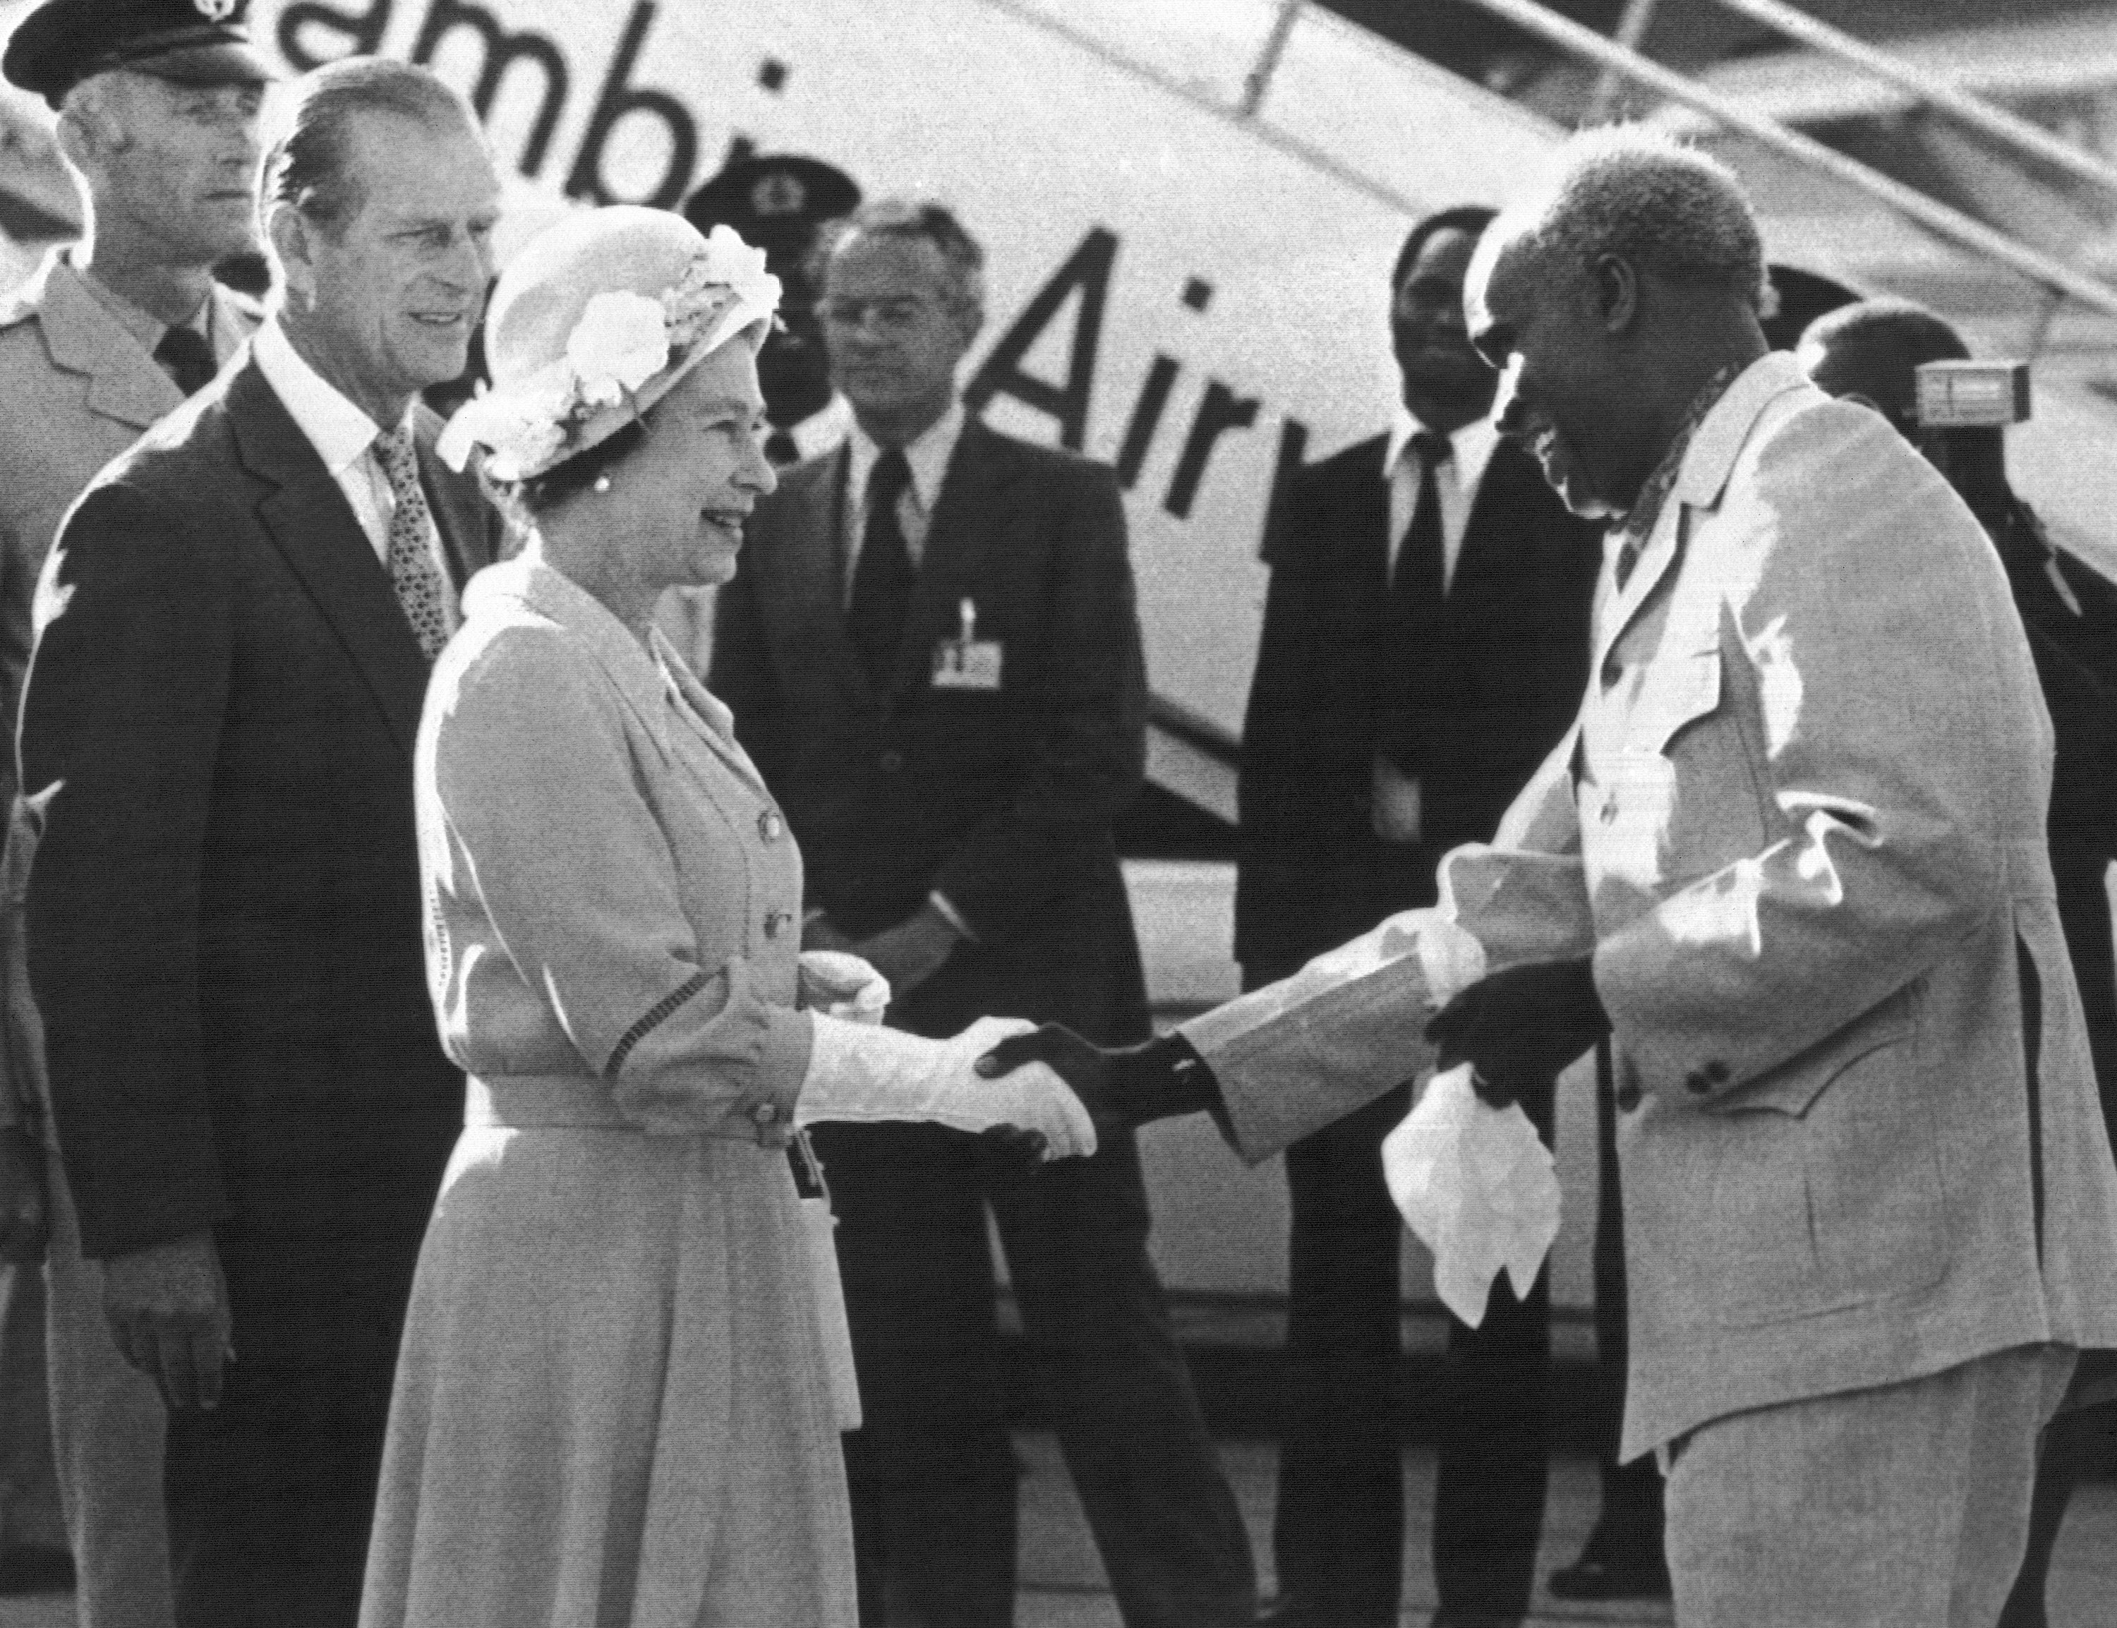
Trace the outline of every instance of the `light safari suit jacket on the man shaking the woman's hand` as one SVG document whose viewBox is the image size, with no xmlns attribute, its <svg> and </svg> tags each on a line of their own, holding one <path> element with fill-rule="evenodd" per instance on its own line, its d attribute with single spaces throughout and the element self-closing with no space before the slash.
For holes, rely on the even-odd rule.
<svg viewBox="0 0 2117 1628">
<path fill-rule="evenodd" d="M 1628 584 L 1605 578 L 1579 722 L 1497 843 L 1444 862 L 1495 965 L 1594 957 L 1626 1459 L 1744 1408 L 2117 1342 L 2049 785 L 1975 519 L 1882 419 L 1753 364 Z M 1183 1033 L 1262 1158 L 1408 1073 L 1418 997 L 1406 959 L 1351 946 Z"/>
</svg>

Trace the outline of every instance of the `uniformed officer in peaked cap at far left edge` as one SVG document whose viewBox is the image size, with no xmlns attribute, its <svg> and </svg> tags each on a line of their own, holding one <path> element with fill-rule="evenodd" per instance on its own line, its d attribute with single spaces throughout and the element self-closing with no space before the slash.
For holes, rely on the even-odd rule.
<svg viewBox="0 0 2117 1628">
<path fill-rule="evenodd" d="M 49 102 L 80 195 L 83 233 L 0 303 L 0 809 L 13 804 L 13 728 L 30 663 L 30 601 L 59 517 L 89 478 L 214 377 L 258 309 L 212 279 L 254 241 L 256 121 L 271 68 L 235 0 L 51 0 L 28 13 L 0 72 Z M 47 1133 L 40 1029 L 21 965 L 30 838 L 11 838 L 0 889 L 6 1088 L 0 1090 L 0 1522 L 44 1537 L 21 1488 L 55 1452 L 85 1628 L 165 1628 L 163 1414 L 112 1344 L 95 1266 Z M 49 1245 L 47 1245 L 49 1238 Z M 47 1304 L 49 1300 L 49 1304 Z M 51 1435 L 44 1431 L 47 1315 Z M 53 1524 L 55 1514 L 44 1518 Z M 51 1533 L 51 1554 L 64 1562 Z M 0 1588 L 49 1581 L 0 1554 Z M 44 1567 L 42 1571 L 51 1571 Z"/>
</svg>

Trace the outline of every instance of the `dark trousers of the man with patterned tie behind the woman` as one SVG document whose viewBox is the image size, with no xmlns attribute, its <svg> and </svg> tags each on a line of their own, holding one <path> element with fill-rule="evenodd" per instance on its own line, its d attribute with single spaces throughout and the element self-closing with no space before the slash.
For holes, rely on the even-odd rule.
<svg viewBox="0 0 2117 1628">
<path fill-rule="evenodd" d="M 354 1628 L 406 1243 L 364 1281 L 330 1241 L 222 1249 L 237 1359 L 216 1410 L 169 1412 L 163 1461 L 178 1628 Z"/>
</svg>

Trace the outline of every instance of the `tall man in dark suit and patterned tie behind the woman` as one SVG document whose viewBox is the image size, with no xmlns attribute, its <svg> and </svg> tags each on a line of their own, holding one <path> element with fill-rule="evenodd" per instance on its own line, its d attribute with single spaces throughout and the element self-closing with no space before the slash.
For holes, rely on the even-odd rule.
<svg viewBox="0 0 2117 1628">
<path fill-rule="evenodd" d="M 273 315 L 68 517 L 21 728 L 59 1147 L 171 1410 L 182 1628 L 354 1622 L 462 1120 L 411 749 L 495 521 L 415 392 L 464 368 L 497 180 L 462 97 L 400 64 L 318 70 L 282 129 Z"/>
</svg>

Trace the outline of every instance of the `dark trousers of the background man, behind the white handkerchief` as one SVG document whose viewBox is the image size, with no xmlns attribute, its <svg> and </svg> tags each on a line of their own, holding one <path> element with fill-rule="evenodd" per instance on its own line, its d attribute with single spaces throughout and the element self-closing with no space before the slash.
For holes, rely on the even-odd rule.
<svg viewBox="0 0 2117 1628">
<path fill-rule="evenodd" d="M 1524 1101 L 1550 1141 L 1552 1099 Z M 1272 1550 L 1304 1620 L 1395 1628 L 1404 1575 L 1397 1440 L 1399 1243 L 1380 1143 L 1410 1086 L 1287 1150 L 1293 1200 L 1287 1346 L 1293 1406 L 1279 1448 Z M 1505 1277 L 1484 1323 L 1448 1319 L 1433 1495 L 1442 1605 L 1522 1613 L 1535 1581 L 1550 1454 L 1550 1285 Z"/>
</svg>

